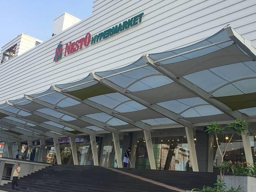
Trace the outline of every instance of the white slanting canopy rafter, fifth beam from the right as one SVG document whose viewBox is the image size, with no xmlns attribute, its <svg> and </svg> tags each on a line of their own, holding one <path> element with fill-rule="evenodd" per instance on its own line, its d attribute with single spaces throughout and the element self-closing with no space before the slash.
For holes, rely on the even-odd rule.
<svg viewBox="0 0 256 192">
<path fill-rule="evenodd" d="M 116 130 L 116 129 L 112 128 L 112 127 L 109 127 L 109 126 L 105 126 L 104 123 L 102 123 L 102 122 L 100 122 L 100 121 L 97 121 L 97 120 L 95 120 L 95 119 L 92 119 L 92 118 L 90 118 L 90 117 L 86 117 L 86 116 L 81 116 L 81 117 L 79 117 L 78 115 L 75 115 L 75 114 L 70 113 L 70 112 L 65 111 L 65 110 L 61 110 L 60 108 L 54 108 L 55 105 L 53 105 L 53 104 L 50 104 L 50 103 L 41 101 L 41 100 L 39 100 L 39 99 L 34 99 L 34 98 L 31 97 L 31 96 L 27 96 L 27 95 L 24 95 L 24 96 L 25 96 L 25 98 L 28 99 L 29 101 L 32 101 L 32 102 L 41 104 L 41 105 L 43 105 L 43 106 L 45 106 L 45 107 L 48 107 L 48 108 L 50 108 L 50 109 L 52 109 L 52 110 L 56 110 L 56 111 L 58 111 L 58 112 L 60 112 L 60 113 L 63 113 L 63 114 L 65 114 L 65 115 L 69 115 L 70 117 L 74 117 L 74 118 L 79 119 L 79 120 L 81 120 L 81 121 L 84 121 L 84 122 L 86 122 L 86 123 L 93 124 L 93 125 L 95 125 L 95 126 L 97 126 L 97 127 L 100 127 L 100 128 L 102 128 L 102 129 L 106 130 L 106 131 L 114 132 L 114 133 L 119 133 L 118 130 Z M 68 97 L 65 97 L 65 98 L 68 98 Z"/>
</svg>

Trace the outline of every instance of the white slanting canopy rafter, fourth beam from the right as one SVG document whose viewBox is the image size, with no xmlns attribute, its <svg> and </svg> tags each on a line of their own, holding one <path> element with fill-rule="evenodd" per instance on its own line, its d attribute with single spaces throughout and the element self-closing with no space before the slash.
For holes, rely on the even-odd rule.
<svg viewBox="0 0 256 192">
<path fill-rule="evenodd" d="M 56 87 L 55 85 L 52 85 L 51 87 L 52 87 L 52 89 L 54 91 L 56 91 L 58 93 L 61 93 L 62 95 L 68 96 L 68 97 L 70 97 L 70 98 L 72 98 L 72 99 L 74 99 L 76 101 L 79 101 L 80 103 L 83 103 L 83 104 L 85 104 L 87 106 L 90 106 L 90 107 L 92 107 L 94 109 L 100 110 L 100 111 L 102 111 L 102 112 L 104 112 L 104 113 L 106 113 L 106 114 L 108 114 L 110 116 L 116 117 L 116 118 L 118 118 L 118 119 L 120 119 L 120 120 L 122 120 L 122 121 L 124 121 L 124 122 L 126 122 L 128 124 L 132 124 L 132 125 L 140 128 L 142 130 L 150 131 L 150 129 L 151 129 L 149 124 L 145 124 L 145 123 L 143 123 L 141 121 L 136 121 L 135 122 L 135 121 L 133 121 L 133 120 L 131 120 L 129 118 L 123 117 L 123 116 L 118 115 L 116 113 L 112 113 L 111 109 L 109 109 L 109 108 L 107 108 L 107 107 L 105 107 L 103 105 L 100 105 L 99 103 L 94 103 L 94 102 L 92 102 L 92 101 L 90 101 L 88 99 L 81 100 L 81 99 L 79 99 L 79 98 L 77 98 L 75 96 L 69 95 L 67 93 L 63 93 L 61 91 L 61 89 Z"/>
</svg>

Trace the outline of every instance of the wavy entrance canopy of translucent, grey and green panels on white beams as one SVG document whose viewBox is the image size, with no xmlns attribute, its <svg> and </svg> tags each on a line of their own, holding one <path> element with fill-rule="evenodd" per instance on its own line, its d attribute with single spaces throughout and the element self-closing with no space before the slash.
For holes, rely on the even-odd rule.
<svg viewBox="0 0 256 192">
<path fill-rule="evenodd" d="M 144 54 L 126 67 L 6 101 L 1 132 L 39 139 L 255 121 L 255 60 L 251 42 L 227 27 L 196 44 Z"/>
</svg>

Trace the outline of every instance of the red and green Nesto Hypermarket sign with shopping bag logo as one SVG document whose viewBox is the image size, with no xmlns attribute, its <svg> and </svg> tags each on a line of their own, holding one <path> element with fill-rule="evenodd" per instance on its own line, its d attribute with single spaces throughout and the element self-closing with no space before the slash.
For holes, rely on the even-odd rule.
<svg viewBox="0 0 256 192">
<path fill-rule="evenodd" d="M 115 35 L 116 33 L 122 32 L 125 29 L 128 29 L 134 25 L 137 25 L 138 23 L 141 22 L 142 15 L 144 13 L 140 13 L 139 15 L 136 15 L 135 17 L 132 17 L 128 19 L 127 21 L 124 21 L 123 23 L 119 23 L 119 25 L 116 25 L 112 28 L 109 28 L 108 30 L 105 30 L 104 32 L 100 32 L 97 35 L 94 35 L 93 37 L 91 36 L 91 33 L 87 33 L 85 37 L 81 39 L 77 39 L 74 42 L 68 42 L 66 43 L 66 48 L 65 48 L 65 53 L 63 56 L 66 56 L 70 53 L 74 53 L 78 51 L 79 49 L 82 49 L 83 47 L 87 47 L 90 44 L 97 43 L 101 41 L 102 39 L 107 39 L 108 37 Z M 61 59 L 63 48 L 62 48 L 62 41 L 60 41 L 60 44 L 55 50 L 55 57 L 54 61 L 57 62 L 59 59 Z"/>
</svg>

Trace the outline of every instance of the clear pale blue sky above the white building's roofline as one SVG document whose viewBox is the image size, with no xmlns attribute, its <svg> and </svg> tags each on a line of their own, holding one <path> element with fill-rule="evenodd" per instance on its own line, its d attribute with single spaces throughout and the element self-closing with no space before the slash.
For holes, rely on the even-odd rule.
<svg viewBox="0 0 256 192">
<path fill-rule="evenodd" d="M 93 0 L 0 1 L 0 49 L 21 33 L 44 41 L 52 34 L 53 19 L 67 12 L 83 20 L 93 6 Z"/>
</svg>

